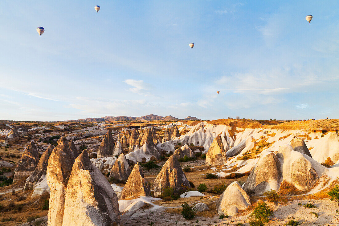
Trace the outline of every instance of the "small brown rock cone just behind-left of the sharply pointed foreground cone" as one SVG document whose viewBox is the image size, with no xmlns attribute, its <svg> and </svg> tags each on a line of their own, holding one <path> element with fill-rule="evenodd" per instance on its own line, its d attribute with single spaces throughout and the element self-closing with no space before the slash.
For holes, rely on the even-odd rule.
<svg viewBox="0 0 339 226">
<path fill-rule="evenodd" d="M 128 160 L 124 154 L 121 154 L 115 161 L 111 173 L 109 174 L 109 180 L 121 180 L 127 181 L 129 174 L 131 174 L 131 166 L 129 166 Z"/>
</svg>

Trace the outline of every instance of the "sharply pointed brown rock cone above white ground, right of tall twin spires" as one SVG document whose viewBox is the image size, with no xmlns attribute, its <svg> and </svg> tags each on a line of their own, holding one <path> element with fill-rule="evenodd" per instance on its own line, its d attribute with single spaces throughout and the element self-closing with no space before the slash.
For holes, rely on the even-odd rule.
<svg viewBox="0 0 339 226">
<path fill-rule="evenodd" d="M 146 182 L 141 164 L 139 162 L 134 165 L 128 180 L 122 189 L 120 199 L 138 196 L 151 196 L 149 184 Z"/>
</svg>

